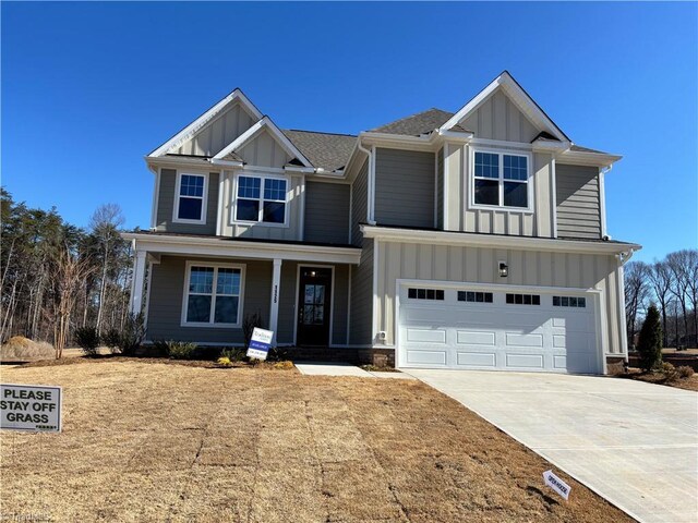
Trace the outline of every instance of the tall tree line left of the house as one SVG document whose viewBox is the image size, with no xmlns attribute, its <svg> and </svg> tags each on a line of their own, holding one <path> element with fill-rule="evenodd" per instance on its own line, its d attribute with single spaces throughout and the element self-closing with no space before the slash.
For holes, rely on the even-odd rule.
<svg viewBox="0 0 698 523">
<path fill-rule="evenodd" d="M 116 204 L 98 207 L 85 229 L 56 208 L 14 202 L 0 188 L 0 341 L 49 341 L 57 356 L 77 328 L 121 330 L 129 319 L 131 246 Z"/>
</svg>

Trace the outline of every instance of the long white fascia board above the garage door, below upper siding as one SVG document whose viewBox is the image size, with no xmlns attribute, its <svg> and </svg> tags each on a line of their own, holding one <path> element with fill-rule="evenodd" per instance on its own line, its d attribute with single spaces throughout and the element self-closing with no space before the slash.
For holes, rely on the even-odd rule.
<svg viewBox="0 0 698 523">
<path fill-rule="evenodd" d="M 418 242 L 437 245 L 472 245 L 478 247 L 516 248 L 521 251 L 549 251 L 565 253 L 618 254 L 639 251 L 641 245 L 628 243 L 600 243 L 574 240 L 554 240 L 529 236 L 502 236 L 494 234 L 469 234 L 447 231 L 414 231 L 361 226 L 365 238 L 385 241 Z"/>
</svg>

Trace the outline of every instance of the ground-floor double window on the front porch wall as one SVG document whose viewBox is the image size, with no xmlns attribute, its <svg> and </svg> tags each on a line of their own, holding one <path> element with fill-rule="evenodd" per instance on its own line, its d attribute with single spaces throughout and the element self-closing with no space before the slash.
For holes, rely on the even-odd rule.
<svg viewBox="0 0 698 523">
<path fill-rule="evenodd" d="M 182 325 L 240 325 L 242 267 L 188 264 Z"/>
</svg>

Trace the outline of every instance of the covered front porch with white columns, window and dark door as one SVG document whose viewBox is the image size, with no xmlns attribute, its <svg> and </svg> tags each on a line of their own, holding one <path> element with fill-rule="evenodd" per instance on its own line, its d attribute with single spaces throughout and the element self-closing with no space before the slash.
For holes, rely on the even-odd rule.
<svg viewBox="0 0 698 523">
<path fill-rule="evenodd" d="M 146 342 L 241 346 L 243 326 L 257 316 L 263 328 L 275 332 L 277 345 L 348 345 L 350 266 L 359 263 L 360 248 L 161 233 L 125 236 L 135 258 L 131 311 L 144 313 Z"/>
</svg>

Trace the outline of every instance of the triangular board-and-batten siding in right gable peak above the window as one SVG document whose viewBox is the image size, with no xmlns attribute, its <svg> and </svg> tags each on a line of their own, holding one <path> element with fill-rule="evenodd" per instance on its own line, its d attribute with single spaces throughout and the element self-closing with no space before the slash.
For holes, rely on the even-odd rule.
<svg viewBox="0 0 698 523">
<path fill-rule="evenodd" d="M 502 89 L 495 90 L 476 111 L 459 122 L 478 138 L 530 144 L 539 131 Z"/>
</svg>

